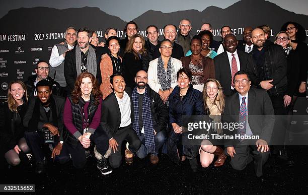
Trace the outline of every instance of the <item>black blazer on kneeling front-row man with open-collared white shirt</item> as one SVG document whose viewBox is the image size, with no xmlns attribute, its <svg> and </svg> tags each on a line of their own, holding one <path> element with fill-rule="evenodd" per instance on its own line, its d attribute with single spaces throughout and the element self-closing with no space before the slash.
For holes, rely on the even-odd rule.
<svg viewBox="0 0 308 195">
<path fill-rule="evenodd" d="M 130 98 L 130 119 L 134 121 L 134 107 L 131 99 L 131 89 L 125 88 L 126 93 Z M 120 107 L 114 92 L 109 94 L 102 101 L 102 114 L 101 114 L 101 126 L 108 138 L 113 138 L 114 134 L 118 131 L 121 124 L 121 112 Z"/>
</svg>

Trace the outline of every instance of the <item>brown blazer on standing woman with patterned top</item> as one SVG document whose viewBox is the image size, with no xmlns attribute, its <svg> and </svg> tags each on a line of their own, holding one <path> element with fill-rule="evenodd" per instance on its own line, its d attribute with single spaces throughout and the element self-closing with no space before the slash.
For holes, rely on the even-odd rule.
<svg viewBox="0 0 308 195">
<path fill-rule="evenodd" d="M 202 64 L 203 64 L 204 82 L 209 78 L 215 79 L 214 60 L 209 57 L 205 57 L 203 55 L 201 58 L 202 58 Z M 191 55 L 186 56 L 186 57 L 181 57 L 181 61 L 183 64 L 183 68 L 189 69 Z"/>
</svg>

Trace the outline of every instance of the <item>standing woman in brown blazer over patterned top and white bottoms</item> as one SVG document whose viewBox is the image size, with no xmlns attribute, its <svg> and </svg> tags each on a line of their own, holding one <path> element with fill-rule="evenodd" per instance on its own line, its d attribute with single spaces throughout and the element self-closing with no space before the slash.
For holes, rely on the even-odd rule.
<svg viewBox="0 0 308 195">
<path fill-rule="evenodd" d="M 215 78 L 214 60 L 201 54 L 201 46 L 201 38 L 195 35 L 190 41 L 192 54 L 181 57 L 183 68 L 190 69 L 192 72 L 193 88 L 200 92 L 203 91 L 204 82 L 208 78 Z"/>
</svg>

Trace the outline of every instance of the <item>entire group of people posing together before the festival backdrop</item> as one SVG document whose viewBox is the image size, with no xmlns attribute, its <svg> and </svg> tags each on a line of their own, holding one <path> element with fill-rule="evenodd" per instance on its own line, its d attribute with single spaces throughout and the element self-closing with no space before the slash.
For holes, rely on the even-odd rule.
<svg viewBox="0 0 308 195">
<path fill-rule="evenodd" d="M 122 40 L 117 29 L 106 29 L 106 43 L 87 28 L 68 27 L 49 63 L 39 61 L 36 75 L 25 83 L 9 84 L 0 109 L 1 149 L 8 164 L 16 166 L 32 154 L 35 172 L 43 173 L 50 154 L 42 146 L 48 145 L 51 158 L 83 168 L 93 149 L 105 175 L 112 172 L 109 166 L 121 166 L 125 148 L 127 164 L 148 154 L 157 164 L 162 152 L 177 164 L 188 159 L 197 172 L 198 157 L 208 167 L 216 155 L 214 166 L 219 167 L 230 156 L 233 168 L 243 170 L 253 161 L 256 175 L 262 176 L 269 145 L 275 143 L 271 153 L 292 165 L 284 143 L 287 121 L 275 115 L 292 114 L 296 98 L 305 96 L 303 28 L 287 22 L 273 43 L 266 25 L 246 27 L 242 41 L 223 26 L 221 42 L 213 40 L 209 23 L 195 36 L 188 19 L 178 27 L 166 25 L 159 41 L 158 28 L 150 25 L 145 41 L 130 21 Z M 189 145 L 186 115 L 242 122 L 233 133 L 259 139 L 204 139 Z M 221 127 L 209 132 L 230 134 Z"/>
</svg>

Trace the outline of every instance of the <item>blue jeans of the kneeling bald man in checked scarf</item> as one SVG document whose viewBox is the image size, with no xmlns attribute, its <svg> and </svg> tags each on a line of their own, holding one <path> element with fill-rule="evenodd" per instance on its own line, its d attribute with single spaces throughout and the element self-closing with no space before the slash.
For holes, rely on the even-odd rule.
<svg viewBox="0 0 308 195">
<path fill-rule="evenodd" d="M 142 144 L 139 150 L 137 150 L 136 155 L 137 157 L 142 159 L 147 156 L 147 149 L 145 147 L 144 134 L 141 134 L 140 140 Z M 163 131 L 156 134 L 156 136 L 154 137 L 156 149 L 155 149 L 155 154 L 153 155 L 158 155 L 158 151 L 164 145 L 165 141 L 166 141 L 166 136 Z"/>
</svg>

